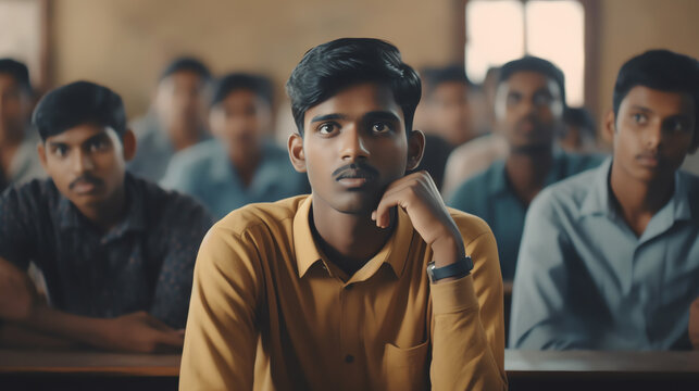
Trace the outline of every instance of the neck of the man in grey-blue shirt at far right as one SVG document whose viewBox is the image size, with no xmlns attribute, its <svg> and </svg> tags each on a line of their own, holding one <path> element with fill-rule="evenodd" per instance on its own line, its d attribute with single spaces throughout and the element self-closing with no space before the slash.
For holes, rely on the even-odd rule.
<svg viewBox="0 0 699 391">
<path fill-rule="evenodd" d="M 642 181 L 628 176 L 614 161 L 609 182 L 616 207 L 637 236 L 642 235 L 652 216 L 670 201 L 675 190 L 674 175 Z"/>
</svg>

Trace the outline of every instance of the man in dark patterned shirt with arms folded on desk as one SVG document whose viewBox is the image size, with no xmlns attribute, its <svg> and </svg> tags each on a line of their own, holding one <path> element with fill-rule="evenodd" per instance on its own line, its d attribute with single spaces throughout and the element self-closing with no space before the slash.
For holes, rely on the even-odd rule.
<svg viewBox="0 0 699 391">
<path fill-rule="evenodd" d="M 136 141 L 110 89 L 86 81 L 58 88 L 33 119 L 51 179 L 0 197 L 0 316 L 12 320 L 0 339 L 16 343 L 14 330 L 33 345 L 182 346 L 211 217 L 192 199 L 126 173 Z M 48 305 L 17 275 L 30 262 L 42 272 Z"/>
</svg>

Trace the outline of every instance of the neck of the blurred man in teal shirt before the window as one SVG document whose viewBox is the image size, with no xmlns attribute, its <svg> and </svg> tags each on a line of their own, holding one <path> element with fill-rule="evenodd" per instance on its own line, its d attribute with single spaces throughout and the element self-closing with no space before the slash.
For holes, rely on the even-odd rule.
<svg viewBox="0 0 699 391">
<path fill-rule="evenodd" d="M 514 192 L 526 205 L 541 191 L 546 177 L 553 165 L 550 148 L 538 153 L 511 151 L 505 162 L 505 172 Z"/>
</svg>

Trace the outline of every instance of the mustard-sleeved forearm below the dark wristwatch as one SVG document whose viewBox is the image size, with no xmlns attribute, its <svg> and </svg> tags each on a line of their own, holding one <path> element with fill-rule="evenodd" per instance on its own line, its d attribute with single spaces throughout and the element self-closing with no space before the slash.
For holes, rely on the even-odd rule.
<svg viewBox="0 0 699 391">
<path fill-rule="evenodd" d="M 470 276 L 432 286 L 435 390 L 503 390 L 507 382 L 484 330 Z"/>
</svg>

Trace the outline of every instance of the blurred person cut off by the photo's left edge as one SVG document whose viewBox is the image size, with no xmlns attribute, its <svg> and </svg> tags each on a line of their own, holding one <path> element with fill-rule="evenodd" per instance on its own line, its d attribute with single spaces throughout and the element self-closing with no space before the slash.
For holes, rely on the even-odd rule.
<svg viewBox="0 0 699 391">
<path fill-rule="evenodd" d="M 26 65 L 0 59 L 0 191 L 46 177 L 36 152 L 39 138 L 29 125 L 33 103 Z"/>
</svg>

